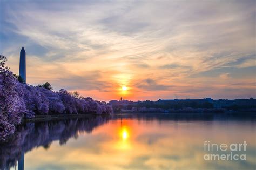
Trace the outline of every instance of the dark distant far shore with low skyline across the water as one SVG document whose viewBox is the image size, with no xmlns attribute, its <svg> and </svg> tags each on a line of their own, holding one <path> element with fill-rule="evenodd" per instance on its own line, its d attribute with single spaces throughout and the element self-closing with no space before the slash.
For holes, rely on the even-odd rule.
<svg viewBox="0 0 256 170">
<path fill-rule="evenodd" d="M 256 99 L 217 99 L 212 98 L 204 99 L 159 99 L 157 101 L 129 101 L 129 100 L 111 100 L 109 104 L 112 105 L 118 111 L 133 110 L 136 108 L 139 112 L 155 112 L 155 109 L 167 110 L 179 110 L 179 109 L 197 109 L 203 112 L 203 108 L 225 108 L 227 110 L 256 110 Z M 133 112 L 132 111 L 132 112 Z M 188 111 L 188 110 L 187 110 Z M 218 111 L 218 110 L 217 110 Z"/>
</svg>

